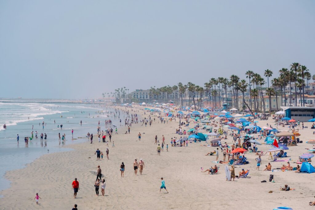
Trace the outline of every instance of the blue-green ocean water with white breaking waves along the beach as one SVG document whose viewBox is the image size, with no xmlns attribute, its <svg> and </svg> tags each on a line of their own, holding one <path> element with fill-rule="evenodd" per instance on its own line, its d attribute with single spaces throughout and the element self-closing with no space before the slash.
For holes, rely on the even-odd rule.
<svg viewBox="0 0 315 210">
<path fill-rule="evenodd" d="M 108 116 L 106 111 L 109 112 Z M 111 111 L 114 112 L 104 105 L 96 104 L 0 100 L 0 190 L 10 186 L 10 182 L 4 179 L 6 171 L 25 167 L 27 163 L 48 152 L 71 150 L 64 148 L 64 145 L 88 141 L 85 138 L 86 134 L 97 133 L 98 121 L 100 121 L 101 130 L 111 127 L 105 125 L 105 120 L 108 119 L 112 120 L 113 125 L 118 126 L 119 120 L 117 117 L 114 118 L 114 113 L 110 113 Z M 121 118 L 123 117 L 121 113 Z M 3 128 L 4 124 L 7 126 L 6 129 Z M 60 124 L 63 125 L 62 130 Z M 32 131 L 34 138 L 26 147 L 24 137 L 31 137 Z M 35 138 L 36 131 L 37 139 Z M 41 133 L 47 134 L 46 141 L 40 141 Z M 58 133 L 61 136 L 66 134 L 65 143 L 59 142 Z M 19 144 L 17 144 L 17 134 L 20 137 Z M 98 141 L 96 137 L 94 141 Z"/>
</svg>

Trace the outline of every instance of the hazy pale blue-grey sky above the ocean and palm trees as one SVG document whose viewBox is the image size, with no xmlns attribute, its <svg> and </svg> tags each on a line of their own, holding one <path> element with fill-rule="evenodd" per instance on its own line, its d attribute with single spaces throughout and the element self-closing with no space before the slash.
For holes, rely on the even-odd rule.
<svg viewBox="0 0 315 210">
<path fill-rule="evenodd" d="M 315 1 L 0 0 L 0 97 L 91 99 L 293 62 L 315 74 Z"/>
</svg>

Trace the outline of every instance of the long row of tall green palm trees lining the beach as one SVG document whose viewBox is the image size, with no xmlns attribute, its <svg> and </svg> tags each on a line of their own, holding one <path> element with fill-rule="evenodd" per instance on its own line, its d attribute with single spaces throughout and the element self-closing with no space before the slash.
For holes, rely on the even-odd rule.
<svg viewBox="0 0 315 210">
<path fill-rule="evenodd" d="M 222 102 L 228 102 L 227 93 L 230 95 L 232 101 L 232 107 L 238 110 L 244 110 L 248 108 L 250 111 L 261 111 L 266 112 L 266 105 L 264 100 L 264 90 L 266 96 L 269 98 L 269 109 L 271 109 L 271 98 L 276 98 L 276 109 L 278 110 L 278 96 L 281 96 L 281 105 L 292 105 L 292 95 L 294 96 L 294 104 L 297 106 L 297 97 L 300 95 L 301 106 L 305 106 L 305 86 L 308 87 L 309 81 L 314 80 L 315 75 L 311 75 L 306 66 L 299 63 L 292 63 L 290 68 L 282 68 L 278 71 L 279 76 L 271 80 L 271 86 L 269 79 L 273 76 L 273 72 L 269 69 L 264 71 L 264 77 L 267 78 L 267 88 L 264 88 L 266 81 L 260 74 L 253 71 L 247 71 L 245 73 L 248 83 L 245 79 L 240 79 L 238 75 L 231 75 L 230 78 L 218 77 L 211 78 L 209 82 L 205 82 L 202 86 L 188 82 L 183 85 L 179 82 L 174 86 L 164 86 L 156 88 L 155 86 L 150 88 L 150 99 L 167 103 L 174 101 L 176 105 L 187 105 L 185 102 L 188 101 L 190 105 L 203 107 L 203 97 L 207 97 L 207 107 L 212 106 L 214 108 L 221 107 Z M 289 84 L 289 95 L 286 93 L 286 86 Z M 291 91 L 294 86 L 294 91 Z M 299 89 L 299 93 L 297 91 Z M 118 88 L 115 90 L 116 98 L 127 97 L 126 90 L 129 89 Z M 239 107 L 239 94 L 242 93 L 242 107 Z M 249 95 L 249 104 L 245 101 L 245 93 Z M 212 96 L 212 97 L 211 97 Z M 284 100 L 283 100 L 284 97 Z M 288 104 L 287 104 L 287 98 Z M 303 99 L 302 99 L 303 98 Z M 212 100 L 209 100 L 212 99 Z M 212 102 L 212 104 L 211 104 Z"/>
</svg>

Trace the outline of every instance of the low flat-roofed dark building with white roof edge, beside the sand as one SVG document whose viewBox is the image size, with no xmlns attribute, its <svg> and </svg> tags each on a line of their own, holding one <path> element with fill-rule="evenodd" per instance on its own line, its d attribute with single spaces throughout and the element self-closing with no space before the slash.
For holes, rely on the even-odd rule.
<svg viewBox="0 0 315 210">
<path fill-rule="evenodd" d="M 295 121 L 307 122 L 315 118 L 315 107 L 283 106 L 285 116 Z"/>
</svg>

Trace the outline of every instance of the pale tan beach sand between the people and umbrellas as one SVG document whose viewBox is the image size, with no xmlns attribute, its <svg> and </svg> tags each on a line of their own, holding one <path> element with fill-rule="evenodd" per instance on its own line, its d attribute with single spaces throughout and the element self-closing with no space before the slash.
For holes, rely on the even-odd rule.
<svg viewBox="0 0 315 210">
<path fill-rule="evenodd" d="M 138 115 L 143 114 L 141 109 L 143 107 L 138 109 Z M 178 119 L 176 122 L 173 120 L 161 124 L 157 122 L 157 117 L 155 118 L 151 127 L 141 126 L 140 123 L 133 124 L 130 134 L 122 134 L 128 127 L 119 128 L 119 134 L 113 134 L 112 137 L 115 147 L 112 148 L 112 143 L 109 143 L 109 160 L 105 155 L 106 143 L 99 143 L 97 138 L 94 138 L 93 144 L 87 139 L 86 143 L 68 146 L 74 149 L 72 151 L 47 154 L 25 168 L 7 172 L 6 178 L 12 183 L 9 189 L 1 192 L 4 198 L 0 200 L 0 209 L 71 209 L 74 204 L 78 205 L 79 210 L 272 209 L 279 206 L 313 209 L 308 202 L 315 195 L 314 173 L 262 171 L 268 162 L 272 168 L 281 167 L 285 163 L 271 162 L 267 159 L 268 154 L 262 156 L 261 171 L 256 171 L 257 156 L 255 153 L 247 153 L 245 156 L 249 164 L 235 168 L 235 174 L 238 175 L 242 168 L 249 169 L 251 178 L 226 181 L 226 164 L 213 163 L 216 156 L 205 156 L 216 147 L 201 146 L 204 142 L 189 143 L 188 147 L 171 147 L 170 138 L 179 138 L 179 135 L 175 134 Z M 268 120 L 259 121 L 258 125 L 266 126 L 266 123 L 274 124 L 272 120 Z M 311 123 L 304 124 L 311 127 Z M 190 128 L 192 127 L 193 123 Z M 303 143 L 290 147 L 286 150 L 289 157 L 282 158 L 291 158 L 292 167 L 296 167 L 293 162 L 298 160 L 298 156 L 307 152 L 305 148 L 312 147 L 305 143 L 315 138 L 315 135 L 312 135 L 313 130 L 309 128 L 300 129 L 300 139 Z M 139 132 L 142 135 L 141 141 L 138 140 Z M 164 135 L 165 143 L 169 144 L 169 151 L 166 151 L 165 145 L 161 156 L 157 156 L 155 135 L 160 143 Z M 263 139 L 259 141 L 263 142 Z M 232 145 L 232 137 L 229 136 L 226 142 Z M 97 148 L 100 148 L 105 156 L 101 161 L 97 161 L 94 155 Z M 260 151 L 266 151 L 270 145 L 258 145 L 258 148 Z M 139 175 L 138 170 L 136 176 L 133 162 L 135 159 L 139 161 L 140 158 L 145 162 L 145 167 L 143 174 Z M 221 150 L 219 160 L 223 160 Z M 125 164 L 123 178 L 119 171 L 121 162 Z M 215 164 L 220 167 L 218 174 L 201 173 L 201 167 L 207 169 Z M 98 165 L 106 176 L 105 196 L 95 196 L 96 177 L 89 172 L 97 170 Z M 270 174 L 274 174 L 275 183 L 269 182 Z M 159 194 L 161 177 L 165 180 L 169 194 L 166 194 L 164 189 Z M 74 178 L 80 183 L 76 199 L 73 198 L 71 185 Z M 261 183 L 262 180 L 267 182 Z M 285 184 L 295 190 L 280 191 L 279 188 Z M 273 192 L 268 193 L 270 190 Z M 42 198 L 39 205 L 33 200 L 37 192 Z"/>
</svg>

